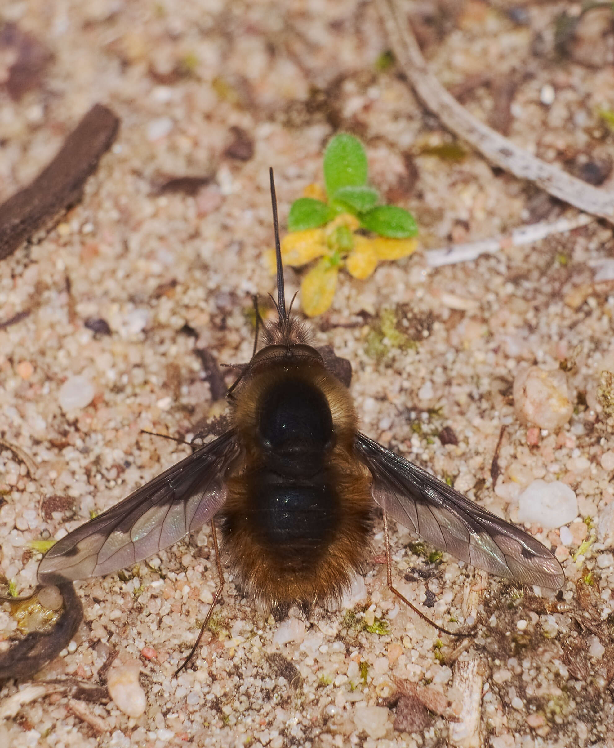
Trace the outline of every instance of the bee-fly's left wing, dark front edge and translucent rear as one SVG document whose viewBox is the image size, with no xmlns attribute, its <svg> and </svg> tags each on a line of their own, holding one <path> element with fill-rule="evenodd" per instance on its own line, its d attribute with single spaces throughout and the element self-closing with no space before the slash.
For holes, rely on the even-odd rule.
<svg viewBox="0 0 614 748">
<path fill-rule="evenodd" d="M 69 533 L 38 567 L 42 584 L 110 574 L 197 530 L 226 500 L 224 473 L 239 455 L 227 432 Z"/>
</svg>

